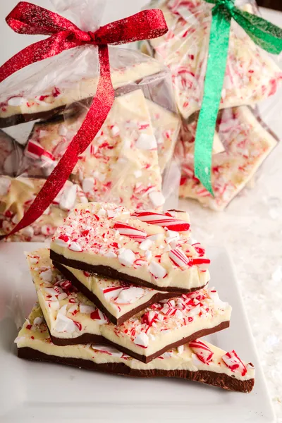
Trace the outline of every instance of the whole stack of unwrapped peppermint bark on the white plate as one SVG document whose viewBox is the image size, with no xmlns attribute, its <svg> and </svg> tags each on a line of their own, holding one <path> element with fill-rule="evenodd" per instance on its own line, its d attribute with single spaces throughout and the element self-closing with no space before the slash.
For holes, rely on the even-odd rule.
<svg viewBox="0 0 282 423">
<path fill-rule="evenodd" d="M 38 304 L 18 356 L 128 376 L 174 376 L 250 392 L 255 370 L 202 336 L 229 326 L 185 212 L 78 204 L 27 261 Z"/>
</svg>

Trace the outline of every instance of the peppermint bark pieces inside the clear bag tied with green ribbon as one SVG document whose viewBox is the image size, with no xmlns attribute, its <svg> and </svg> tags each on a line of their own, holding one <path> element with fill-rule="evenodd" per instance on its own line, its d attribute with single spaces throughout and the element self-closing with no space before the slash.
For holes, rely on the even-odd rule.
<svg viewBox="0 0 282 423">
<path fill-rule="evenodd" d="M 276 93 L 282 78 L 281 69 L 277 61 L 258 47 L 232 19 L 212 149 L 212 184 L 208 190 L 207 182 L 204 188 L 195 177 L 194 168 L 200 163 L 200 157 L 195 165 L 194 147 L 204 88 L 210 89 L 207 98 L 209 95 L 212 98 L 214 93 L 214 88 L 204 86 L 214 4 L 204 0 L 167 0 L 152 1 L 150 6 L 161 8 L 169 30 L 159 39 L 143 42 L 141 49 L 171 69 L 176 103 L 183 121 L 176 146 L 182 173 L 180 197 L 193 198 L 212 209 L 222 210 L 245 187 L 276 145 L 276 137 L 250 107 Z M 239 0 L 235 6 L 252 15 L 258 14 L 255 1 Z M 214 81 L 218 78 L 214 68 Z M 207 108 L 205 113 L 209 114 Z M 208 120 L 207 117 L 207 125 Z M 205 130 L 209 133 L 206 139 L 209 137 L 212 141 L 212 132 L 203 125 L 198 128 L 201 140 Z M 205 171 L 208 168 L 204 168 Z"/>
</svg>

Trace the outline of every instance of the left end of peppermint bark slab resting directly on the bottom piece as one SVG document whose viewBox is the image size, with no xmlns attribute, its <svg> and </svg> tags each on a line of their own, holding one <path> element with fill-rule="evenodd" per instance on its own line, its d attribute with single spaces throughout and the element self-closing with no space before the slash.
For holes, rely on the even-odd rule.
<svg viewBox="0 0 282 423">
<path fill-rule="evenodd" d="M 49 249 L 27 254 L 39 305 L 56 345 L 101 343 L 100 326 L 108 319 L 54 268 Z"/>
</svg>

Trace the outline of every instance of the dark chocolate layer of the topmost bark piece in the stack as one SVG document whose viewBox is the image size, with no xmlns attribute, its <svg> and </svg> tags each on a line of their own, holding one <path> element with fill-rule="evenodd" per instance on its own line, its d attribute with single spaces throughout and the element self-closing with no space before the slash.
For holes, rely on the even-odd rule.
<svg viewBox="0 0 282 423">
<path fill-rule="evenodd" d="M 203 286 L 197 286 L 197 288 L 191 288 L 190 290 L 187 290 L 186 288 L 177 288 L 176 286 L 156 286 L 153 283 L 143 281 L 140 278 L 136 278 L 135 276 L 130 276 L 127 274 L 123 274 L 122 272 L 112 269 L 109 266 L 95 266 L 94 264 L 88 264 L 85 262 L 79 262 L 78 260 L 73 259 L 67 259 L 66 257 L 63 257 L 63 255 L 60 255 L 53 250 L 50 250 L 50 258 L 54 260 L 56 263 L 66 264 L 68 267 L 73 267 L 74 269 L 84 270 L 88 271 L 90 274 L 98 274 L 105 276 L 106 278 L 111 279 L 120 279 L 121 281 L 133 283 L 133 285 L 137 286 L 146 286 L 147 288 L 152 288 L 159 291 L 168 291 L 173 293 L 192 293 L 195 290 L 200 290 L 204 288 Z M 174 295 L 174 294 L 173 294 Z"/>
</svg>

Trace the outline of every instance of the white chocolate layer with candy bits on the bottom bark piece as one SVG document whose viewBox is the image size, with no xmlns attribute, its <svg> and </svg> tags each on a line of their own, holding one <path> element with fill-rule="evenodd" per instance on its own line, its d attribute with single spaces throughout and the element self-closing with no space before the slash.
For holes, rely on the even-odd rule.
<svg viewBox="0 0 282 423">
<path fill-rule="evenodd" d="M 41 321 L 41 323 L 39 323 Z M 198 340 L 200 341 L 200 340 Z M 47 326 L 44 322 L 41 309 L 35 305 L 23 325 L 23 329 L 18 333 L 16 338 L 18 348 L 32 348 L 47 355 L 54 355 L 56 357 L 73 357 L 82 360 L 91 360 L 97 364 L 104 363 L 123 363 L 131 369 L 149 370 L 149 369 L 185 369 L 191 372 L 198 370 L 207 370 L 209 372 L 223 373 L 232 376 L 241 381 L 247 381 L 255 377 L 255 369 L 250 363 L 244 363 L 240 369 L 231 369 L 226 365 L 225 359 L 226 352 L 214 345 L 201 341 L 212 352 L 212 359 L 208 362 L 203 362 L 199 359 L 202 357 L 199 350 L 197 354 L 195 350 L 189 347 L 189 344 L 183 348 L 173 349 L 164 353 L 152 362 L 147 364 L 135 360 L 128 355 L 120 353 L 114 348 L 109 348 L 104 345 L 67 345 L 59 347 L 54 345 L 49 338 Z M 243 371 L 242 371 L 243 369 Z"/>
</svg>

